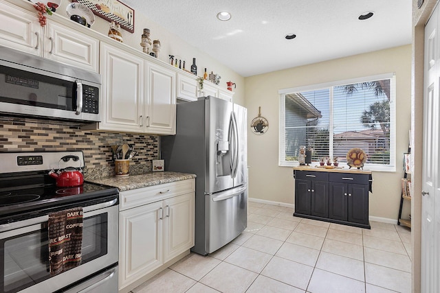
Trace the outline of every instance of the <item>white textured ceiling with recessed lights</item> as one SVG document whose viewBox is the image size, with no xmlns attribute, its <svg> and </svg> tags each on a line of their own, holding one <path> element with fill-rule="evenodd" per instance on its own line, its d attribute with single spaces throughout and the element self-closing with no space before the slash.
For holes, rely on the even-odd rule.
<svg viewBox="0 0 440 293">
<path fill-rule="evenodd" d="M 411 43 L 411 0 L 123 2 L 244 77 Z"/>
</svg>

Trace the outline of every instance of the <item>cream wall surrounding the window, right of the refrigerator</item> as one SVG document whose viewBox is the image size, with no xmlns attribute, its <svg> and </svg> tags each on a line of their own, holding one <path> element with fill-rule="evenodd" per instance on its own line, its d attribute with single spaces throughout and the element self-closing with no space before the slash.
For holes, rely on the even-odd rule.
<svg viewBox="0 0 440 293">
<path fill-rule="evenodd" d="M 248 134 L 249 197 L 294 203 L 292 167 L 278 167 L 278 90 L 347 80 L 381 73 L 396 74 L 397 172 L 373 172 L 370 216 L 397 221 L 401 196 L 401 155 L 408 149 L 411 101 L 411 45 L 320 62 L 245 78 L 248 120 L 261 115 L 269 121 L 263 135 Z M 409 213 L 409 205 L 404 214 Z"/>
</svg>

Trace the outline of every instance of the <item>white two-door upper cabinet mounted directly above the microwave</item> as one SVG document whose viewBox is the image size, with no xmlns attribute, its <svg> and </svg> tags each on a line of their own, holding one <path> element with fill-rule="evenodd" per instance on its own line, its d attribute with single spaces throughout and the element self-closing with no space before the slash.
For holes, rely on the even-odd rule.
<svg viewBox="0 0 440 293">
<path fill-rule="evenodd" d="M 21 5 L 29 11 L 0 1 L 0 45 L 98 72 L 99 41 L 96 38 L 57 23 L 55 19 L 69 20 L 56 14 L 47 17 L 47 25 L 41 27 L 33 4 Z"/>
</svg>

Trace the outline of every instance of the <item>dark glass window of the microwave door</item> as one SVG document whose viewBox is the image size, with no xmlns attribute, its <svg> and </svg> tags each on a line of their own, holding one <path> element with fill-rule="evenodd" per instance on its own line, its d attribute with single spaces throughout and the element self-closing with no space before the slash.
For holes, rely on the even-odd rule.
<svg viewBox="0 0 440 293">
<path fill-rule="evenodd" d="M 0 102 L 72 110 L 73 82 L 0 66 Z"/>
</svg>

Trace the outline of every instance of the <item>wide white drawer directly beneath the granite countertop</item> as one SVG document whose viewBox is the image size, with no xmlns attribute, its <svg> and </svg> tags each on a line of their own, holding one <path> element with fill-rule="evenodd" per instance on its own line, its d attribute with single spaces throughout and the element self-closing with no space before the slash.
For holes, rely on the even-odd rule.
<svg viewBox="0 0 440 293">
<path fill-rule="evenodd" d="M 195 179 L 175 181 L 120 192 L 120 211 L 195 191 Z"/>
</svg>

